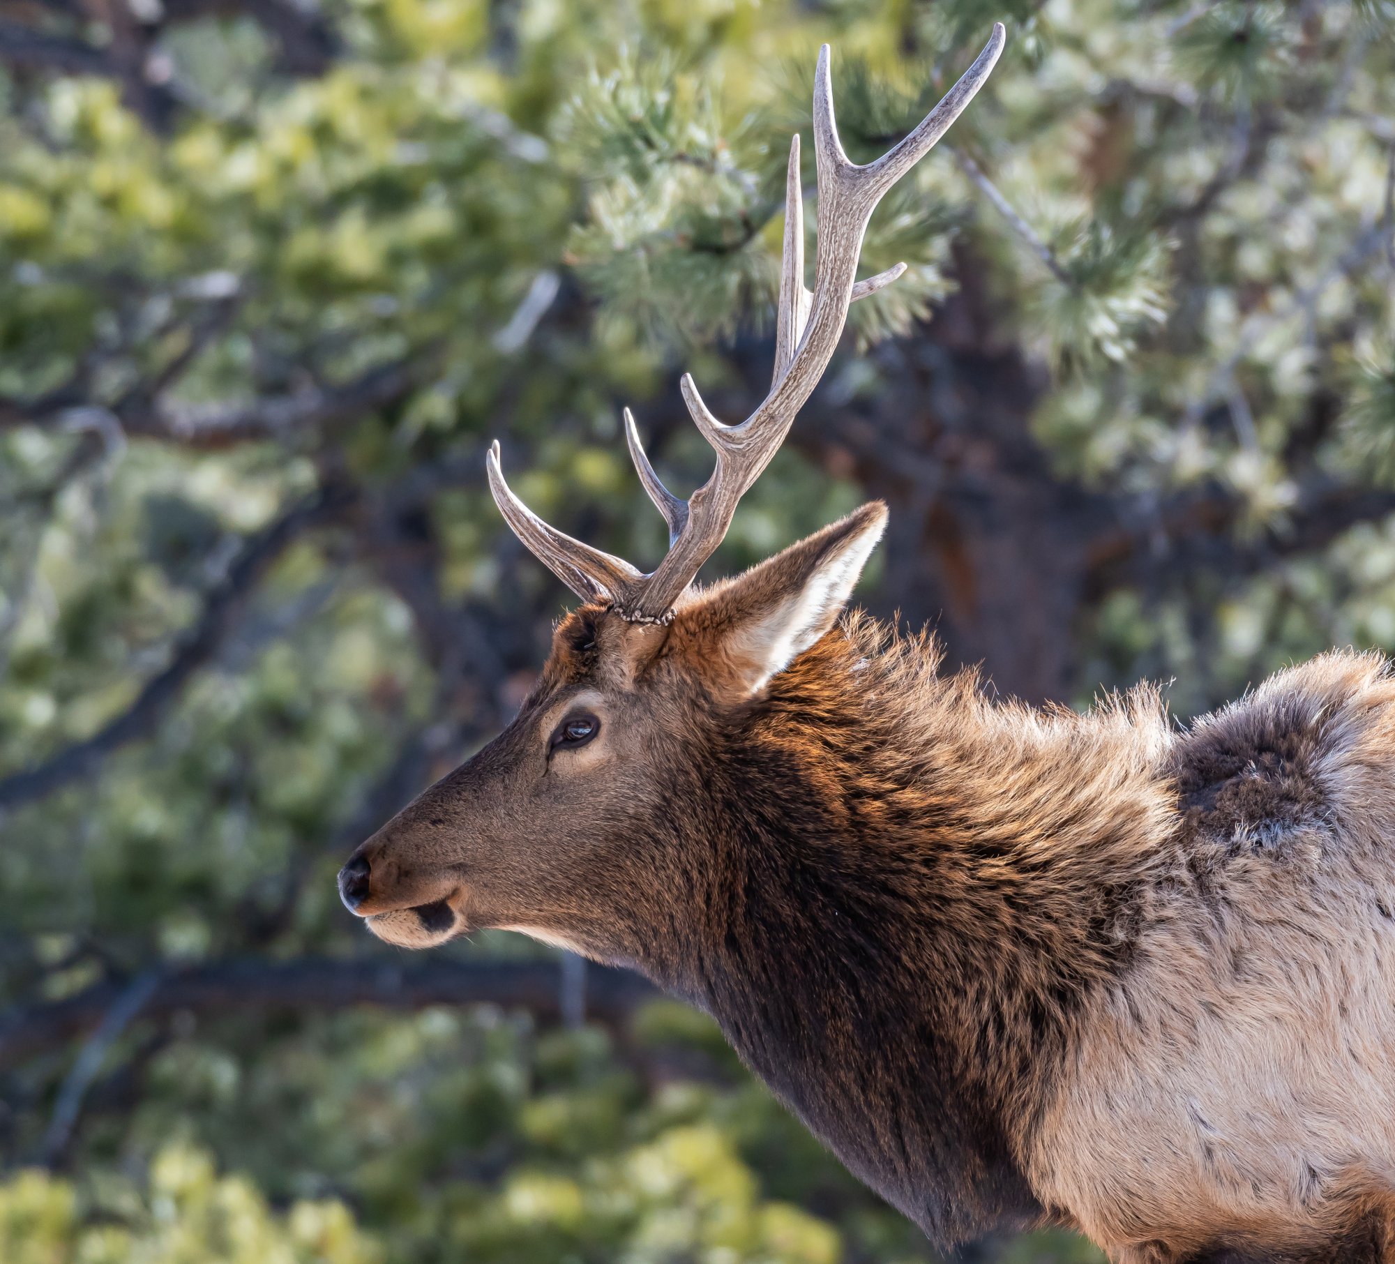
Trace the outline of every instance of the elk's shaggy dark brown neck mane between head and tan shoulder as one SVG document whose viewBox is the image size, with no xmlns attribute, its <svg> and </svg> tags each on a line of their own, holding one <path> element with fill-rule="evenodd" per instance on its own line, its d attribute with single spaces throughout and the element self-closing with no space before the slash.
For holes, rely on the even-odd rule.
<svg viewBox="0 0 1395 1264">
<path fill-rule="evenodd" d="M 1017 1155 L 1127 965 L 1169 738 L 1152 695 L 1038 713 L 936 665 L 854 618 L 723 728 L 670 813 L 691 898 L 639 964 L 954 1242 L 1046 1214 Z"/>
</svg>

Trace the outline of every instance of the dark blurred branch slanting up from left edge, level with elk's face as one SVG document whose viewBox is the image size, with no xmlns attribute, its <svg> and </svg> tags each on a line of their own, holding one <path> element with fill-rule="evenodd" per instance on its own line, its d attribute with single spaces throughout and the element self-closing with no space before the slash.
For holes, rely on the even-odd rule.
<svg viewBox="0 0 1395 1264">
<path fill-rule="evenodd" d="M 209 594 L 202 615 L 169 665 L 145 684 L 135 702 L 92 737 L 0 780 L 0 808 L 17 808 L 42 798 L 89 773 L 119 746 L 152 732 L 188 678 L 218 654 L 271 564 L 303 530 L 340 512 L 345 499 L 343 492 L 317 492 L 252 537 Z"/>
</svg>

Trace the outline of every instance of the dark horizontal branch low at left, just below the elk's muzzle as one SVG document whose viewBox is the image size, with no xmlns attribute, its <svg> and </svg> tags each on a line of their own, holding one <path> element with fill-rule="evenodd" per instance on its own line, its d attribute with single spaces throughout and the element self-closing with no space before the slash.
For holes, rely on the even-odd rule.
<svg viewBox="0 0 1395 1264">
<path fill-rule="evenodd" d="M 95 1031 L 127 995 L 128 984 L 103 982 L 49 1005 L 0 1014 L 0 1069 L 61 1048 Z M 638 974 L 591 965 L 586 1011 L 621 1023 L 660 993 Z M 331 1011 L 371 1005 L 416 1010 L 434 1005 L 497 1005 L 559 1021 L 565 991 L 558 961 L 234 960 L 160 975 L 142 996 L 141 1017 L 179 1011 L 222 1017 L 237 1013 Z"/>
</svg>

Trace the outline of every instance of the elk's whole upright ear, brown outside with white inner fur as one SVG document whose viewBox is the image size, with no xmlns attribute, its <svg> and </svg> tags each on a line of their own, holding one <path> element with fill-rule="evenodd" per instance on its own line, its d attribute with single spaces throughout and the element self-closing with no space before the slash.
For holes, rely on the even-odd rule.
<svg viewBox="0 0 1395 1264">
<path fill-rule="evenodd" d="M 833 626 L 884 529 L 886 505 L 872 501 L 702 593 L 678 612 L 684 652 L 749 698 Z"/>
</svg>

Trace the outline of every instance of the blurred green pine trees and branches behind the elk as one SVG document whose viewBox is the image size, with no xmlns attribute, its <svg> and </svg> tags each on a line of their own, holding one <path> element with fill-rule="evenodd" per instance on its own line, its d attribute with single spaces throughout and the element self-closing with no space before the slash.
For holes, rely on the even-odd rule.
<svg viewBox="0 0 1395 1264">
<path fill-rule="evenodd" d="M 704 1018 L 333 875 L 566 605 L 487 441 L 653 565 L 619 409 L 686 494 L 679 373 L 763 395 L 817 45 L 866 160 L 995 18 L 709 573 L 883 497 L 869 608 L 1179 723 L 1395 649 L 1389 0 L 0 0 L 0 1260 L 937 1258 Z"/>
</svg>

